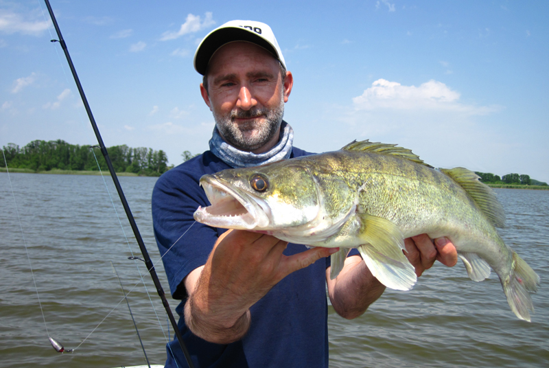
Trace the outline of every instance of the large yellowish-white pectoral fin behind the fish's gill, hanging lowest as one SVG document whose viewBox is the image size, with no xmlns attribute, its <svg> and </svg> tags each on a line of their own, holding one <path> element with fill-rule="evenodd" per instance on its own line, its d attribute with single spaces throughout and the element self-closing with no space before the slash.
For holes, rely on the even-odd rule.
<svg viewBox="0 0 549 368">
<path fill-rule="evenodd" d="M 358 247 L 362 259 L 379 282 L 395 290 L 410 290 L 417 281 L 414 267 L 402 253 L 404 236 L 397 225 L 369 214 L 358 214 L 362 220 Z"/>
</svg>

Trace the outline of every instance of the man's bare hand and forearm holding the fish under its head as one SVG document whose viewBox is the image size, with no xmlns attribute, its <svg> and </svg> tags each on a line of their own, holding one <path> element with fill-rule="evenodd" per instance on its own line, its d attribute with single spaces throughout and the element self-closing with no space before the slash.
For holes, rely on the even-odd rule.
<svg viewBox="0 0 549 368">
<path fill-rule="evenodd" d="M 261 233 L 223 233 L 206 264 L 185 277 L 185 323 L 191 331 L 212 343 L 240 340 L 250 326 L 253 304 L 290 273 L 338 251 L 314 248 L 286 256 L 286 246 Z"/>
</svg>

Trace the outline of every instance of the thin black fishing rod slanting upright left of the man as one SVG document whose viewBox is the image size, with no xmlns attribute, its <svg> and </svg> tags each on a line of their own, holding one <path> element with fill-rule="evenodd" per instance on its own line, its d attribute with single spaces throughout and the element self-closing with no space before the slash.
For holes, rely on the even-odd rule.
<svg viewBox="0 0 549 368">
<path fill-rule="evenodd" d="M 132 231 L 135 235 L 135 239 L 137 240 L 137 244 L 139 244 L 139 249 L 141 250 L 141 254 L 143 255 L 145 266 L 147 266 L 149 274 L 152 277 L 152 281 L 154 282 L 154 286 L 156 287 L 156 292 L 158 292 L 160 299 L 162 299 L 162 304 L 164 306 L 164 309 L 166 310 L 168 318 L 170 318 L 172 327 L 174 327 L 174 332 L 176 334 L 177 340 L 179 341 L 181 350 L 183 350 L 183 354 L 185 354 L 187 365 L 189 365 L 189 368 L 194 368 L 189 351 L 187 350 L 187 347 L 183 342 L 183 336 L 181 336 L 181 332 L 179 331 L 179 328 L 177 326 L 177 322 L 176 322 L 176 319 L 174 318 L 174 314 L 170 309 L 170 305 L 167 302 L 165 292 L 160 284 L 159 277 L 158 275 L 156 275 L 156 271 L 154 270 L 154 265 L 150 260 L 149 253 L 147 251 L 147 248 L 145 247 L 143 238 L 141 238 L 141 233 L 139 233 L 139 229 L 137 228 L 137 224 L 135 223 L 135 219 L 133 218 L 132 211 L 130 210 L 130 206 L 128 205 L 128 201 L 126 200 L 126 196 L 124 196 L 124 191 L 122 191 L 122 187 L 120 186 L 120 183 L 118 181 L 118 177 L 115 173 L 115 169 L 113 168 L 113 163 L 110 161 L 110 158 L 108 157 L 108 152 L 105 147 L 105 144 L 103 143 L 103 139 L 101 137 L 99 128 L 97 128 L 97 124 L 95 124 L 95 119 L 93 118 L 93 114 L 91 113 L 91 108 L 88 104 L 88 99 L 86 98 L 84 89 L 82 89 L 82 84 L 80 84 L 80 79 L 78 78 L 78 74 L 76 73 L 76 69 L 73 65 L 71 56 L 69 55 L 67 44 L 65 43 L 65 40 L 63 39 L 63 36 L 61 34 L 61 30 L 59 29 L 59 25 L 57 24 L 54 10 L 51 9 L 51 5 L 49 5 L 49 0 L 44 0 L 44 1 L 46 3 L 47 11 L 49 12 L 51 21 L 54 23 L 54 27 L 56 29 L 57 36 L 59 38 L 58 40 L 51 40 L 51 42 L 58 42 L 61 45 L 63 51 L 65 52 L 65 57 L 67 58 L 67 62 L 69 62 L 69 67 L 71 68 L 71 73 L 73 74 L 74 81 L 76 82 L 76 87 L 78 87 L 78 92 L 80 92 L 80 97 L 82 98 L 82 102 L 84 103 L 84 107 L 86 108 L 86 113 L 88 113 L 88 117 L 90 119 L 93 132 L 95 133 L 95 137 L 97 138 L 97 143 L 99 143 L 101 153 L 103 154 L 103 157 L 105 158 L 105 161 L 107 163 L 108 172 L 110 172 L 110 177 L 113 178 L 113 183 L 115 183 L 118 196 L 120 197 L 120 201 L 122 203 L 122 206 L 124 207 L 124 211 L 126 211 L 126 217 L 128 217 L 128 221 L 130 222 L 130 226 L 132 227 Z M 175 358 L 175 354 L 174 354 L 174 358 Z"/>
</svg>

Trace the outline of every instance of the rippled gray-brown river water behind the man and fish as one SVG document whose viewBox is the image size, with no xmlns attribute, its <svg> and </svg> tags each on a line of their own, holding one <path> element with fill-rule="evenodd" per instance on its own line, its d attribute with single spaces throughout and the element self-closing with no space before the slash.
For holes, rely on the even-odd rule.
<svg viewBox="0 0 549 368">
<path fill-rule="evenodd" d="M 128 260 L 141 253 L 110 178 L 10 178 L 11 185 L 0 173 L 0 367 L 145 364 L 111 262 L 126 292 L 131 290 L 128 300 L 150 363 L 163 364 L 173 333 L 143 262 Z M 120 178 L 168 292 L 152 233 L 155 181 Z M 549 191 L 495 192 L 506 210 L 502 238 L 541 277 L 532 323 L 516 319 L 495 273 L 477 283 L 461 263 L 436 264 L 413 290 L 387 290 L 358 319 L 342 319 L 330 306 L 330 367 L 549 366 Z M 177 302 L 169 301 L 174 310 Z M 48 334 L 75 352 L 58 354 Z"/>
</svg>

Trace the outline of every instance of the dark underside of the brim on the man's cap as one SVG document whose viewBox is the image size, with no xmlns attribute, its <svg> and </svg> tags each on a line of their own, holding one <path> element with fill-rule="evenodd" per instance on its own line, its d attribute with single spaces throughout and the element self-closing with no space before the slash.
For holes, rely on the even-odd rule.
<svg viewBox="0 0 549 368">
<path fill-rule="evenodd" d="M 242 27 L 225 27 L 209 34 L 202 41 L 200 46 L 198 46 L 196 54 L 194 55 L 194 69 L 204 76 L 211 56 L 213 56 L 215 51 L 222 47 L 222 45 L 234 41 L 255 43 L 269 51 L 275 58 L 279 59 L 274 47 L 264 38 L 255 34 L 255 32 L 249 32 Z"/>
</svg>

